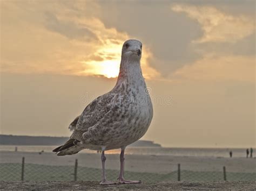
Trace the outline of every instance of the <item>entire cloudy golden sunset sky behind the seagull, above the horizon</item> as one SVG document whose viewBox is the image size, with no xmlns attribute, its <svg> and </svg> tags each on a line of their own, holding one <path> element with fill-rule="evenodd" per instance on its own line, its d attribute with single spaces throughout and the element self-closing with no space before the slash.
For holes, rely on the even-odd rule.
<svg viewBox="0 0 256 191">
<path fill-rule="evenodd" d="M 0 1 L 2 134 L 70 136 L 143 43 L 166 147 L 255 147 L 255 1 Z"/>
</svg>

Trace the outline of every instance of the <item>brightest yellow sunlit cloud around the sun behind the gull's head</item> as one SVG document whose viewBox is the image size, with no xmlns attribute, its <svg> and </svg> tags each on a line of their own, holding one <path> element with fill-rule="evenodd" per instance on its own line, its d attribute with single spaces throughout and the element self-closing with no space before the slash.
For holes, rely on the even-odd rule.
<svg viewBox="0 0 256 191">
<path fill-rule="evenodd" d="M 88 23 L 85 20 L 81 20 L 87 26 Z M 100 20 L 95 19 L 95 22 L 91 23 L 89 29 L 95 32 L 100 44 L 97 45 L 97 50 L 88 58 L 102 58 L 103 60 L 87 59 L 85 58 L 80 63 L 83 63 L 85 69 L 78 73 L 78 75 L 104 75 L 106 77 L 117 77 L 119 73 L 119 65 L 121 58 L 122 46 L 125 40 L 131 37 L 122 32 L 118 32 L 116 29 L 106 29 L 104 24 Z M 143 57 L 142 57 L 142 69 L 144 77 L 151 79 L 159 76 L 157 70 L 151 68 L 147 63 L 151 56 L 150 50 L 144 46 Z"/>
</svg>

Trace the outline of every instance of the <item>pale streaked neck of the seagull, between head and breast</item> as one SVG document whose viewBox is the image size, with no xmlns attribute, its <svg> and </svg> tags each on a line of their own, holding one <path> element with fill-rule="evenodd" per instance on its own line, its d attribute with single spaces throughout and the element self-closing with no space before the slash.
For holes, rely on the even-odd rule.
<svg viewBox="0 0 256 191">
<path fill-rule="evenodd" d="M 123 82 L 132 84 L 144 82 L 140 61 L 121 60 L 116 86 Z"/>
</svg>

